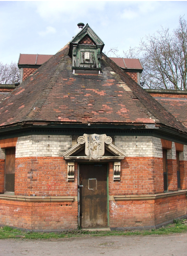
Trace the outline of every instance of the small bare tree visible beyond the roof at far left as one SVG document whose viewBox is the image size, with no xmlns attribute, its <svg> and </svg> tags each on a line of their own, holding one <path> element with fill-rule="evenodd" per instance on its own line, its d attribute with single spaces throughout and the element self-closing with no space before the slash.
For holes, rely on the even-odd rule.
<svg viewBox="0 0 187 256">
<path fill-rule="evenodd" d="M 17 63 L 10 65 L 0 62 L 0 84 L 14 84 L 20 81 L 20 72 Z"/>
</svg>

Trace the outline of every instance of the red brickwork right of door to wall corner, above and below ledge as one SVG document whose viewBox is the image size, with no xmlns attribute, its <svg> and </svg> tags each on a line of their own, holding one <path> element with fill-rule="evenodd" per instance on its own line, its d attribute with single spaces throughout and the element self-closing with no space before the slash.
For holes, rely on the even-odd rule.
<svg viewBox="0 0 187 256">
<path fill-rule="evenodd" d="M 126 157 L 121 162 L 121 179 L 113 182 L 109 168 L 109 195 L 141 195 L 164 192 L 161 158 Z M 110 202 L 110 227 L 154 226 L 154 200 Z"/>
</svg>

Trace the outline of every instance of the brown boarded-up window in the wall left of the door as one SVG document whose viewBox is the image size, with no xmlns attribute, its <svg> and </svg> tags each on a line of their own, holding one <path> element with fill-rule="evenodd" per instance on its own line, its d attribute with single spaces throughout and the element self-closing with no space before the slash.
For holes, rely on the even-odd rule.
<svg viewBox="0 0 187 256">
<path fill-rule="evenodd" d="M 14 192 L 16 148 L 5 150 L 5 192 Z"/>
</svg>

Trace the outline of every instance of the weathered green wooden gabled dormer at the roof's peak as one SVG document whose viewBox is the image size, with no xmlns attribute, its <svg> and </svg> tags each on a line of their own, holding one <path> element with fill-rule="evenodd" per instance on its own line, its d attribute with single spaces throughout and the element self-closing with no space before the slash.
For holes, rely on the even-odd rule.
<svg viewBox="0 0 187 256">
<path fill-rule="evenodd" d="M 79 23 L 79 33 L 71 40 L 69 56 L 77 74 L 100 74 L 104 43 L 86 24 Z"/>
</svg>

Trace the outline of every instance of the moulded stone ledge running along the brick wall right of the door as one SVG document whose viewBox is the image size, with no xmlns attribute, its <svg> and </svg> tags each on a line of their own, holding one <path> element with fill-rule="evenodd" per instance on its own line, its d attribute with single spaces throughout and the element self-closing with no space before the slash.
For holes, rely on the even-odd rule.
<svg viewBox="0 0 187 256">
<path fill-rule="evenodd" d="M 130 200 L 155 200 L 170 196 L 180 196 L 180 195 L 187 195 L 187 190 L 179 190 L 173 192 L 166 192 L 160 194 L 145 194 L 145 195 L 122 195 L 122 196 L 110 196 L 110 200 L 115 201 L 130 201 Z"/>
</svg>

